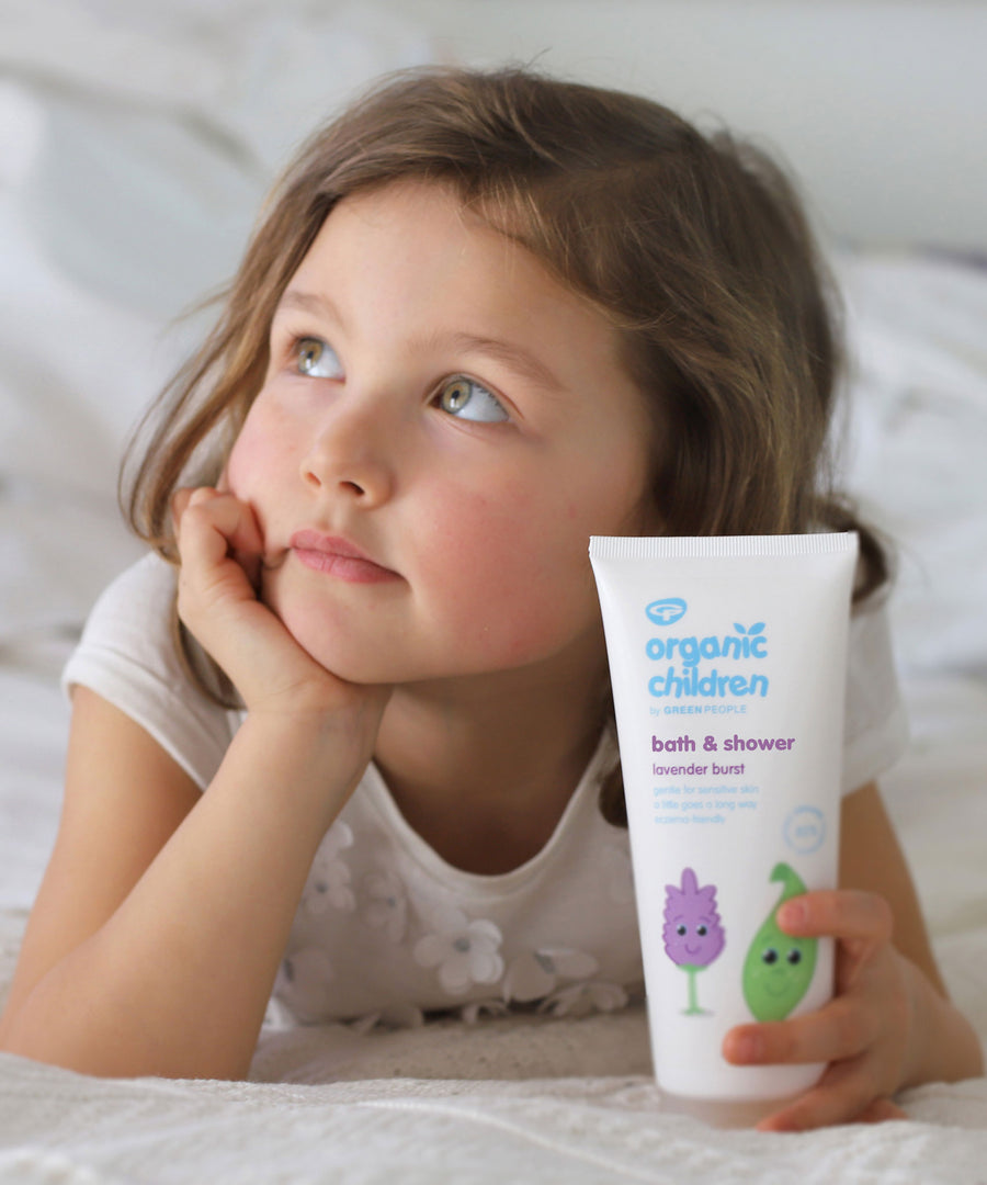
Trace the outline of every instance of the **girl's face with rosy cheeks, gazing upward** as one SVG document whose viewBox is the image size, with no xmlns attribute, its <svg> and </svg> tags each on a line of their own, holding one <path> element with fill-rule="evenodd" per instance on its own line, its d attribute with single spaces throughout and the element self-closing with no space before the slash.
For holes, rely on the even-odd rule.
<svg viewBox="0 0 987 1185">
<path fill-rule="evenodd" d="M 604 319 L 408 182 L 337 206 L 270 345 L 226 480 L 297 641 L 357 683 L 596 678 L 589 537 L 647 530 L 653 449 Z"/>
</svg>

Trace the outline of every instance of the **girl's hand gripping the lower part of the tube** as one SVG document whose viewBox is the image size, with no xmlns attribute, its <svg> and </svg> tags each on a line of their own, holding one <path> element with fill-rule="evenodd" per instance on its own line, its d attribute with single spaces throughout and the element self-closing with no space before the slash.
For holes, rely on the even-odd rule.
<svg viewBox="0 0 987 1185">
<path fill-rule="evenodd" d="M 758 1128 L 801 1132 L 904 1119 L 891 1095 L 917 1056 L 915 968 L 891 944 L 891 908 L 877 893 L 835 889 L 793 897 L 776 920 L 786 934 L 837 940 L 835 994 L 816 1012 L 731 1029 L 724 1057 L 735 1065 L 829 1065 L 810 1090 Z"/>
</svg>

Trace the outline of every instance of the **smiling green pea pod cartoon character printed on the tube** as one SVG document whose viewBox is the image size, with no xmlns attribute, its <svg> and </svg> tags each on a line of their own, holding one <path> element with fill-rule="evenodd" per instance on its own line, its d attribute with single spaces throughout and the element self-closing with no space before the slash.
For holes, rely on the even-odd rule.
<svg viewBox="0 0 987 1185">
<path fill-rule="evenodd" d="M 809 989 L 815 971 L 815 939 L 797 939 L 778 928 L 775 914 L 782 902 L 806 892 L 799 873 L 788 864 L 776 864 L 771 880 L 782 885 L 748 949 L 743 969 L 744 999 L 756 1020 L 784 1020 Z"/>
</svg>

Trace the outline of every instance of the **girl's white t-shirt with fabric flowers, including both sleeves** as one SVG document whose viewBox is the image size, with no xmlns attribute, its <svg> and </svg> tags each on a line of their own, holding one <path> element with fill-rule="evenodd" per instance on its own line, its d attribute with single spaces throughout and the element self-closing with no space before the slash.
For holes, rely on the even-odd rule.
<svg viewBox="0 0 987 1185">
<path fill-rule="evenodd" d="M 242 716 L 185 673 L 171 628 L 174 587 L 174 570 L 154 555 L 123 572 L 92 609 L 63 684 L 127 712 L 206 789 Z M 877 607 L 851 624 L 844 790 L 883 773 L 905 741 Z M 545 847 L 496 876 L 443 860 L 371 764 L 315 856 L 275 1000 L 303 1021 L 390 1024 L 440 1008 L 469 1017 L 523 1003 L 563 1014 L 626 1004 L 642 982 L 628 834 L 598 808 L 616 756 L 607 732 Z"/>
</svg>

